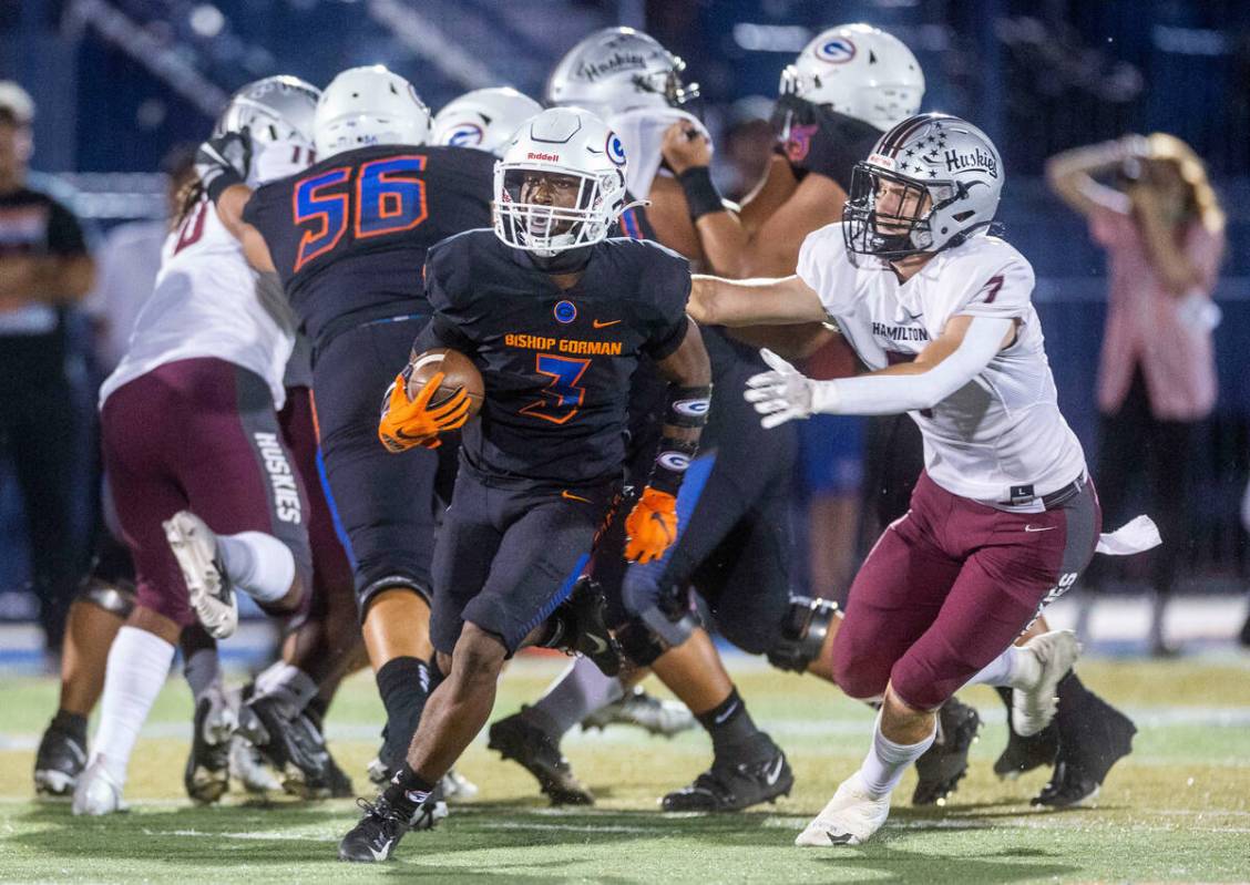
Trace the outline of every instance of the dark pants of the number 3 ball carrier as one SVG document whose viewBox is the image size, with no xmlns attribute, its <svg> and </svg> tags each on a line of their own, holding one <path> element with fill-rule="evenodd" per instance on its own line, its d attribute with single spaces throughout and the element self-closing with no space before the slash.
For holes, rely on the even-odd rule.
<svg viewBox="0 0 1250 885">
<path fill-rule="evenodd" d="M 434 554 L 434 648 L 451 654 L 468 621 L 511 656 L 572 591 L 618 489 L 536 486 L 461 462 Z"/>
</svg>

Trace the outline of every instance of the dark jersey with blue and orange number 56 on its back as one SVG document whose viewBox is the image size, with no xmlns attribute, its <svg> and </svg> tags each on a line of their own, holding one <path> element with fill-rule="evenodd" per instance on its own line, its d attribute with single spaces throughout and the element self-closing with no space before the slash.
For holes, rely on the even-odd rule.
<svg viewBox="0 0 1250 885">
<path fill-rule="evenodd" d="M 265 238 L 301 329 L 322 341 L 429 312 L 425 252 L 490 224 L 494 164 L 465 148 L 360 148 L 258 189 L 244 220 Z"/>
</svg>

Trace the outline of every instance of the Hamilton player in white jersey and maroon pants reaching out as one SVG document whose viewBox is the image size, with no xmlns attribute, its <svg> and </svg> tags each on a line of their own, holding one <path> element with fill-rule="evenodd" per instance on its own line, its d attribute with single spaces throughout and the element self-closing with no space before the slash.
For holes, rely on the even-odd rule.
<svg viewBox="0 0 1250 885">
<path fill-rule="evenodd" d="M 979 129 L 914 116 L 856 165 L 842 222 L 806 238 L 798 274 L 696 278 L 699 321 L 831 319 L 872 369 L 811 381 L 766 352 L 772 371 L 746 391 L 764 426 L 814 412 L 908 411 L 925 439 L 911 509 L 856 575 L 834 648 L 846 694 L 884 696 L 872 745 L 798 845 L 871 838 L 904 770 L 932 744 L 934 711 L 962 685 L 1010 686 L 1016 731 L 1040 731 L 1079 654 L 1068 631 L 1014 645 L 1089 562 L 1101 510 L 1056 402 L 1030 304 L 1032 269 L 986 235 L 1002 179 Z M 1158 542 L 1149 520 L 1132 529 L 1108 551 Z"/>
</svg>

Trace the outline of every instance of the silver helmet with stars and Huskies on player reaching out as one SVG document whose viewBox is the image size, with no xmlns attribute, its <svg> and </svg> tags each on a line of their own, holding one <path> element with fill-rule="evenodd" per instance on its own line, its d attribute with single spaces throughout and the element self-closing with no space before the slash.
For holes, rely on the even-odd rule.
<svg viewBox="0 0 1250 885">
<path fill-rule="evenodd" d="M 900 259 L 958 246 L 994 221 L 1004 179 L 998 148 L 966 120 L 904 120 L 851 172 L 842 206 L 846 248 Z"/>
</svg>

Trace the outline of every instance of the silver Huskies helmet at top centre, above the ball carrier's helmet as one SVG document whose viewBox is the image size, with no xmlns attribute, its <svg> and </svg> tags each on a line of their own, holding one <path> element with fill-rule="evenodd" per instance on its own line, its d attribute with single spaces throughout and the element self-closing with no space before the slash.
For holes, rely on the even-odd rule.
<svg viewBox="0 0 1250 885">
<path fill-rule="evenodd" d="M 681 82 L 686 62 L 632 28 L 605 28 L 565 52 L 546 85 L 549 105 L 576 105 L 601 118 L 635 108 L 676 108 L 699 96 Z"/>
</svg>

